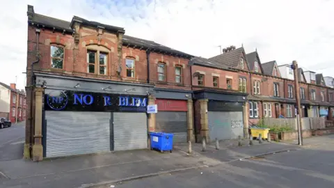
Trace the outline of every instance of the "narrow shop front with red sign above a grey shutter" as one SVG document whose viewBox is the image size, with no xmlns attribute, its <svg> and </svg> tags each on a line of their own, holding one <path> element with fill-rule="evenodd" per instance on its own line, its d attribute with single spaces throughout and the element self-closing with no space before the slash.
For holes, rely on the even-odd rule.
<svg viewBox="0 0 334 188">
<path fill-rule="evenodd" d="M 155 131 L 173 133 L 173 142 L 182 143 L 192 140 L 191 91 L 155 88 Z"/>
</svg>

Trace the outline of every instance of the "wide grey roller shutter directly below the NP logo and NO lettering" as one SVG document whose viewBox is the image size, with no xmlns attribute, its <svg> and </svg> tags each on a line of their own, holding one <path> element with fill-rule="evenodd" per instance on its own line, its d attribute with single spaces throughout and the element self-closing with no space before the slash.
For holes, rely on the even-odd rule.
<svg viewBox="0 0 334 188">
<path fill-rule="evenodd" d="M 110 151 L 110 112 L 45 111 L 46 157 Z"/>
</svg>

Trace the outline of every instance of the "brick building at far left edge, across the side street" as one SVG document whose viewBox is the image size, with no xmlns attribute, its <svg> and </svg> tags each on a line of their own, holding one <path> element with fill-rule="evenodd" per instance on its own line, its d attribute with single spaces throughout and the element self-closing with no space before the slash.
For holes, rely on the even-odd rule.
<svg viewBox="0 0 334 188">
<path fill-rule="evenodd" d="M 10 86 L 0 82 L 0 117 L 16 123 L 26 120 L 26 93 L 19 91 L 16 84 Z"/>
</svg>

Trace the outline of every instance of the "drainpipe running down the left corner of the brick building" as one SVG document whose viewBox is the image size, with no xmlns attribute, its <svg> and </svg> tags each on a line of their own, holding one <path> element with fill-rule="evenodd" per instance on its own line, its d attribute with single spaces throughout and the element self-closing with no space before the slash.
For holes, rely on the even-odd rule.
<svg viewBox="0 0 334 188">
<path fill-rule="evenodd" d="M 40 55 L 39 55 L 39 52 L 38 52 L 38 50 L 39 50 L 39 42 L 40 42 L 40 40 L 39 40 L 39 38 L 40 38 L 40 29 L 36 29 L 35 30 L 36 31 L 36 43 L 37 43 L 37 45 L 36 45 L 36 53 L 37 53 L 37 55 L 36 55 L 36 58 L 37 58 L 37 60 L 36 61 L 33 61 L 32 63 L 31 63 L 31 75 L 30 75 L 30 79 L 31 79 L 31 83 L 30 83 L 30 143 L 29 143 L 29 154 L 30 154 L 30 158 L 32 158 L 32 154 L 31 154 L 31 152 L 32 152 L 32 150 L 33 150 L 33 86 L 35 85 L 35 84 L 33 84 L 33 65 L 35 64 L 35 63 L 38 63 L 39 61 L 40 61 Z"/>
</svg>

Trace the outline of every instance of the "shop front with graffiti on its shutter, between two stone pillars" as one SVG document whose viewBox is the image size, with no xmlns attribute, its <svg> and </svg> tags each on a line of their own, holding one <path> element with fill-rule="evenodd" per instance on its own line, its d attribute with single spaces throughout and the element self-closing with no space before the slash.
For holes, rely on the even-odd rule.
<svg viewBox="0 0 334 188">
<path fill-rule="evenodd" d="M 246 93 L 229 91 L 194 91 L 196 136 L 201 141 L 237 139 L 248 132 Z"/>
</svg>

